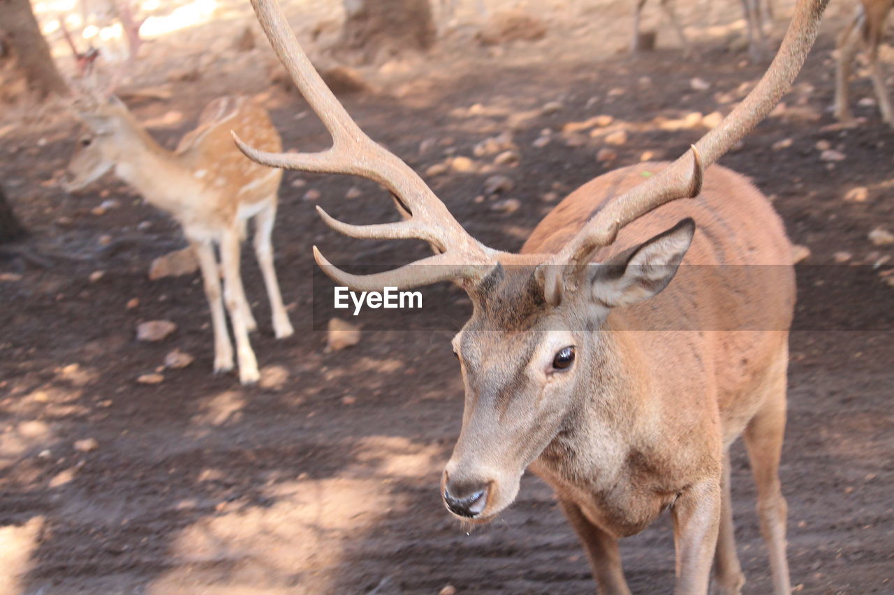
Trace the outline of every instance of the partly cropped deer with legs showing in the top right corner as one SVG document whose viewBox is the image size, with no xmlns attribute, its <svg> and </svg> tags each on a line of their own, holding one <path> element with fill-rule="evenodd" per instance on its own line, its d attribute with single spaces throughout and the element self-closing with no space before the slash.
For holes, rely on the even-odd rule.
<svg viewBox="0 0 894 595">
<path fill-rule="evenodd" d="M 894 0 L 860 0 L 854 19 L 841 32 L 838 38 L 837 59 L 835 69 L 835 117 L 840 122 L 854 122 L 854 113 L 850 109 L 849 80 L 851 67 L 859 46 L 864 46 L 869 76 L 873 80 L 875 96 L 879 100 L 881 119 L 894 126 L 894 107 L 885 86 L 885 77 L 879 64 L 879 43 L 884 32 L 885 21 Z"/>
</svg>

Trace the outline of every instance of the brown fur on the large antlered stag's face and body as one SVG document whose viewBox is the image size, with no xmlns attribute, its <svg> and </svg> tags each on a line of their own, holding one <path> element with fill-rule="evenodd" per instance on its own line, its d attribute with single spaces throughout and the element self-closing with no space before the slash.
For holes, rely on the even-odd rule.
<svg viewBox="0 0 894 595">
<path fill-rule="evenodd" d="M 659 207 L 596 255 L 604 262 L 683 217 L 695 218 L 696 235 L 677 277 L 658 296 L 608 313 L 594 310 L 583 289 L 566 289 L 557 307 L 543 299 L 536 265 L 608 199 L 663 166 L 607 173 L 563 200 L 521 254 L 503 256 L 470 291 L 475 311 L 454 340 L 467 398 L 444 489 L 461 495 L 488 485 L 480 518 L 490 519 L 514 499 L 530 465 L 557 490 L 608 592 L 626 589 L 619 586 L 620 561 L 605 566 L 606 557 L 615 557 L 614 541 L 641 531 L 667 507 L 674 506 L 684 542 L 687 524 L 703 524 L 714 535 L 729 530 L 718 527 L 726 449 L 746 428 L 784 424 L 795 299 L 790 245 L 772 206 L 737 173 L 715 166 L 699 197 Z M 579 369 L 568 386 L 550 388 L 537 365 L 532 370 L 551 333 L 568 333 L 565 342 L 578 346 Z M 781 432 L 767 441 L 770 454 L 754 464 L 755 473 L 769 469 L 760 501 L 772 511 L 762 517 L 775 519 L 766 522 L 766 534 L 782 592 L 789 579 L 774 463 Z M 738 592 L 735 585 L 743 582 L 730 542 L 718 554 L 721 592 Z M 706 588 L 713 543 L 711 537 L 699 542 L 689 557 L 684 550 L 682 564 L 690 570 L 680 578 L 679 585 L 688 585 L 680 592 L 700 592 L 702 582 Z M 722 591 L 723 585 L 732 587 Z"/>
</svg>

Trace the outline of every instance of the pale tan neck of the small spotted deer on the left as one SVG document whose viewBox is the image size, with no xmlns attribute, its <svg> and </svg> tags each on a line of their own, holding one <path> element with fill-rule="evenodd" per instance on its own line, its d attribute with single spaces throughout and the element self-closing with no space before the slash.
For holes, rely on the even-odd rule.
<svg viewBox="0 0 894 595">
<path fill-rule="evenodd" d="M 132 126 L 127 137 L 127 156 L 115 163 L 115 174 L 150 205 L 176 216 L 201 193 L 198 180 L 178 155 L 161 147 L 146 130 Z"/>
</svg>

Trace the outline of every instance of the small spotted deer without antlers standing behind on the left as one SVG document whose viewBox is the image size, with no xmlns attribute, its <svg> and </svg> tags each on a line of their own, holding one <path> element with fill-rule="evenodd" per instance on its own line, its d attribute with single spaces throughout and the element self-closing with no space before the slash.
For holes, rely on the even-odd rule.
<svg viewBox="0 0 894 595">
<path fill-rule="evenodd" d="M 249 161 L 228 135 L 239 130 L 258 146 L 281 151 L 282 141 L 266 110 L 249 97 L 218 97 L 201 113 L 198 127 L 168 151 L 114 95 L 84 94 L 73 107 L 85 130 L 63 176 L 63 189 L 80 191 L 114 170 L 150 205 L 179 222 L 198 261 L 211 309 L 215 373 L 233 368 L 225 305 L 236 339 L 240 382 L 257 382 L 257 357 L 249 342 L 249 331 L 257 329 L 257 323 L 242 286 L 240 241 L 253 219 L 255 256 L 270 298 L 274 333 L 277 339 L 291 336 L 271 239 L 283 171 Z"/>
</svg>

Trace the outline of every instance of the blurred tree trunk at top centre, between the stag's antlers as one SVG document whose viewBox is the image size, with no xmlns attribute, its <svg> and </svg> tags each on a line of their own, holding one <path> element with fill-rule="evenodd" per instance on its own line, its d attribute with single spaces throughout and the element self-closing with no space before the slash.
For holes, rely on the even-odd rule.
<svg viewBox="0 0 894 595">
<path fill-rule="evenodd" d="M 429 0 L 344 0 L 343 50 L 369 63 L 434 45 Z"/>
</svg>

